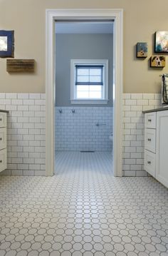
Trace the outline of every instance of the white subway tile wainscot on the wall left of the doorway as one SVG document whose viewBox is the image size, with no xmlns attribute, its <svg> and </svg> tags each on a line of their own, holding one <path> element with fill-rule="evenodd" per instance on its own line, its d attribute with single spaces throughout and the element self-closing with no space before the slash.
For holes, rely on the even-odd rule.
<svg viewBox="0 0 168 256">
<path fill-rule="evenodd" d="M 46 94 L 0 93 L 7 118 L 7 170 L 0 175 L 45 175 Z"/>
</svg>

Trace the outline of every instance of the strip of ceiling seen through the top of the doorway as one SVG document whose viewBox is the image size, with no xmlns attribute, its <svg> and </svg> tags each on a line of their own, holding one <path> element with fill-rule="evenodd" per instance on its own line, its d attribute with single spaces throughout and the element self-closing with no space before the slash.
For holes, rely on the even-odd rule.
<svg viewBox="0 0 168 256">
<path fill-rule="evenodd" d="M 56 34 L 112 34 L 112 21 L 56 22 Z"/>
</svg>

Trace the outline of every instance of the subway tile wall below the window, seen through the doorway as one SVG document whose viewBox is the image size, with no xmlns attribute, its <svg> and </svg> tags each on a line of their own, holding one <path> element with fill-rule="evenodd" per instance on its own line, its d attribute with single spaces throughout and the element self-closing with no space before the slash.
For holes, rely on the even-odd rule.
<svg viewBox="0 0 168 256">
<path fill-rule="evenodd" d="M 112 107 L 56 107 L 55 116 L 56 150 L 112 150 Z"/>
</svg>

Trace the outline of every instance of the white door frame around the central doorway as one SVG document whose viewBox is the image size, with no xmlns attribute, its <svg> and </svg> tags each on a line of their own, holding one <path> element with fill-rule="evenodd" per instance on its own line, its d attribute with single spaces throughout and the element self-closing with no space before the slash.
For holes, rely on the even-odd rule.
<svg viewBox="0 0 168 256">
<path fill-rule="evenodd" d="M 54 106 L 55 106 L 55 21 L 114 20 L 113 68 L 113 160 L 114 175 L 122 176 L 122 9 L 47 9 L 46 10 L 46 175 L 54 172 Z"/>
</svg>

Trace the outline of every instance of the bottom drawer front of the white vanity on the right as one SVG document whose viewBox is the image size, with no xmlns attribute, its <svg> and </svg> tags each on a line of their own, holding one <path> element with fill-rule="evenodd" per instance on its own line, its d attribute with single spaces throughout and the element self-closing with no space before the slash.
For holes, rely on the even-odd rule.
<svg viewBox="0 0 168 256">
<path fill-rule="evenodd" d="M 144 155 L 144 168 L 149 173 L 152 175 L 154 178 L 156 177 L 156 154 L 145 150 L 145 155 Z"/>
</svg>

